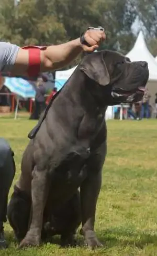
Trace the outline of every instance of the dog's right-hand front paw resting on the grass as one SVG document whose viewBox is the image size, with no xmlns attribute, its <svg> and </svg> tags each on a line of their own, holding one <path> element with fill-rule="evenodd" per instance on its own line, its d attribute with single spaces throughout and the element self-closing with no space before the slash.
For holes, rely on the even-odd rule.
<svg viewBox="0 0 157 256">
<path fill-rule="evenodd" d="M 95 232 L 88 230 L 85 232 L 85 245 L 90 247 L 92 250 L 98 247 L 103 247 L 103 244 L 97 239 Z"/>
</svg>

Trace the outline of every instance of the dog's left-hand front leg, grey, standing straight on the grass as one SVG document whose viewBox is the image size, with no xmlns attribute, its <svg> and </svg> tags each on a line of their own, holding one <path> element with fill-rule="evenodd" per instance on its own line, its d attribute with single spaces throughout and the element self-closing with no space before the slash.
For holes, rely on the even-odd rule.
<svg viewBox="0 0 157 256">
<path fill-rule="evenodd" d="M 32 219 L 26 237 L 21 241 L 20 248 L 38 246 L 41 238 L 43 210 L 47 201 L 49 182 L 47 170 L 33 170 L 31 182 Z"/>
</svg>

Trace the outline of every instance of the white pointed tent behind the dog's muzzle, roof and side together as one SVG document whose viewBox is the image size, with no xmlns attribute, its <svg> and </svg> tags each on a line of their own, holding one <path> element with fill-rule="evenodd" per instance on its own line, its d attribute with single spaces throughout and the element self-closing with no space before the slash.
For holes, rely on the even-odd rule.
<svg viewBox="0 0 157 256">
<path fill-rule="evenodd" d="M 148 62 L 149 81 L 147 87 L 151 95 L 150 102 L 154 103 L 155 93 L 157 92 L 157 62 L 145 44 L 142 31 L 140 31 L 133 48 L 126 56 L 129 57 L 131 61 L 142 60 Z"/>
</svg>

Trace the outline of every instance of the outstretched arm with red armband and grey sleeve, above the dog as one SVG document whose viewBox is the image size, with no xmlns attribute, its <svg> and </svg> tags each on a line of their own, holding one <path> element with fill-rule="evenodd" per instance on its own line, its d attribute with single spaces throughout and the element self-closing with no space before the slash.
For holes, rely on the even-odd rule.
<svg viewBox="0 0 157 256">
<path fill-rule="evenodd" d="M 0 51 L 0 69 L 11 72 L 12 76 L 37 77 L 40 72 L 52 71 L 68 65 L 82 50 L 93 52 L 105 39 L 105 33 L 104 31 L 87 30 L 84 39 L 88 46 L 81 44 L 80 38 L 49 47 L 19 48 L 4 43 L 4 49 Z"/>
</svg>

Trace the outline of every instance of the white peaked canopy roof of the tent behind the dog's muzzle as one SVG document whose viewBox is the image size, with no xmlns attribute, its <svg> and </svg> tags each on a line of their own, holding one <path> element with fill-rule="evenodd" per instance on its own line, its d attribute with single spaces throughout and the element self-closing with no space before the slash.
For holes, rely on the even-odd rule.
<svg viewBox="0 0 157 256">
<path fill-rule="evenodd" d="M 129 51 L 126 56 L 130 58 L 131 61 L 147 61 L 149 68 L 149 80 L 157 80 L 157 62 L 145 44 L 142 31 L 140 31 L 132 50 Z"/>
</svg>

